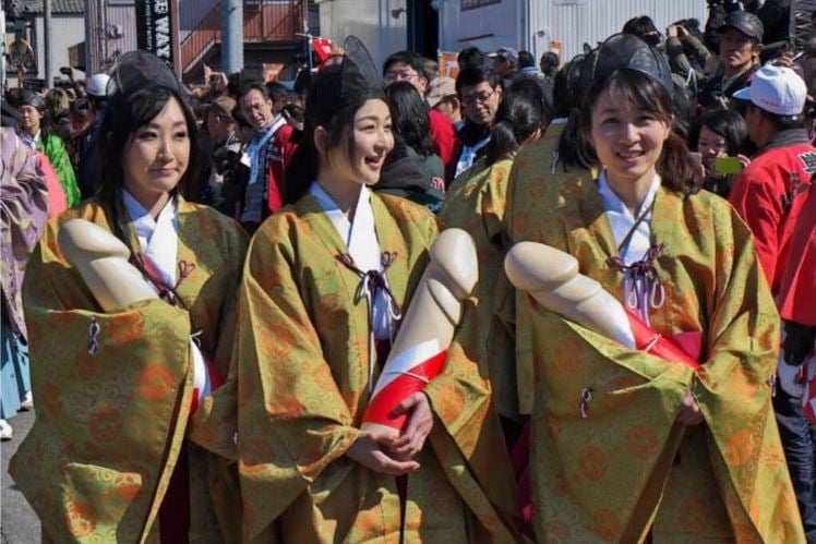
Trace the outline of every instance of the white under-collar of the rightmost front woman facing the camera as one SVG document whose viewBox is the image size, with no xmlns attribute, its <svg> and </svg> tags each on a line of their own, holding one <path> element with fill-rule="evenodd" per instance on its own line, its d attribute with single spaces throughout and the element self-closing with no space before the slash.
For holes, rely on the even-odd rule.
<svg viewBox="0 0 816 544">
<path fill-rule="evenodd" d="M 640 221 L 635 232 L 633 232 L 628 245 L 623 247 L 623 251 L 619 255 L 626 264 L 639 261 L 649 251 L 649 246 L 651 245 L 651 205 L 655 203 L 658 189 L 660 189 L 660 176 L 655 173 L 649 191 L 646 193 L 640 206 L 638 206 L 637 214 L 633 216 L 626 204 L 623 203 L 609 185 L 607 171 L 601 171 L 601 174 L 598 177 L 598 192 L 600 193 L 603 209 L 605 209 L 607 217 L 612 227 L 616 246 L 621 245 L 634 227 L 637 218 L 646 213 L 644 220 Z"/>
</svg>

